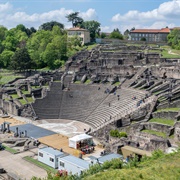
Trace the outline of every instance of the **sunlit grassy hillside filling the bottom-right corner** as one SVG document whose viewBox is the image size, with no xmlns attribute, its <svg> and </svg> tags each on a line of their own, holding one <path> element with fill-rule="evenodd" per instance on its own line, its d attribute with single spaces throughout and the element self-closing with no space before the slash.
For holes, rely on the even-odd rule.
<svg viewBox="0 0 180 180">
<path fill-rule="evenodd" d="M 180 179 L 180 151 L 163 155 L 155 154 L 151 159 L 133 165 L 127 165 L 123 169 L 108 169 L 85 180 L 179 180 Z"/>
</svg>

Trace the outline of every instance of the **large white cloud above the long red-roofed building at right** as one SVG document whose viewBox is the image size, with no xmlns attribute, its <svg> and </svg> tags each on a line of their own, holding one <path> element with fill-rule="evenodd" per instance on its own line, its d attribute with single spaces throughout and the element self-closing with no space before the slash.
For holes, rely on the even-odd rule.
<svg viewBox="0 0 180 180">
<path fill-rule="evenodd" d="M 116 26 L 124 32 L 126 29 L 135 27 L 160 29 L 163 27 L 180 26 L 180 0 L 164 2 L 158 8 L 150 11 L 140 12 L 137 10 L 128 11 L 125 14 L 115 14 L 112 18 L 111 27 Z M 109 29 L 112 29 L 109 27 Z"/>
</svg>

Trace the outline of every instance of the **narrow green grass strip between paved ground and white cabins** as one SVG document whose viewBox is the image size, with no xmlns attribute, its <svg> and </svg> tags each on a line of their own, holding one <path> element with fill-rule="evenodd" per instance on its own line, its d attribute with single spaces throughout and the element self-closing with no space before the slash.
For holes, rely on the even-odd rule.
<svg viewBox="0 0 180 180">
<path fill-rule="evenodd" d="M 55 174 L 57 172 L 57 169 L 54 169 L 42 162 L 39 162 L 38 160 L 33 159 L 32 157 L 26 156 L 23 159 L 27 160 L 28 162 L 30 162 L 32 164 L 35 164 L 38 167 L 41 167 L 42 169 L 46 170 L 47 172 L 51 172 L 53 174 Z"/>
</svg>

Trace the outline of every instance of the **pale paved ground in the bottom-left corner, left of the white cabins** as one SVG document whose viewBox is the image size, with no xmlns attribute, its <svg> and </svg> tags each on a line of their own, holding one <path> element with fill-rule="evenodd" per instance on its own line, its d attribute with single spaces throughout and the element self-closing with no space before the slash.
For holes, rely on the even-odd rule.
<svg viewBox="0 0 180 180">
<path fill-rule="evenodd" d="M 25 156 L 32 155 L 34 155 L 34 153 L 30 151 L 16 155 L 7 151 L 0 151 L 0 166 L 7 172 L 19 176 L 22 180 L 30 180 L 33 176 L 45 178 L 47 176 L 45 170 L 22 159 Z"/>
</svg>

